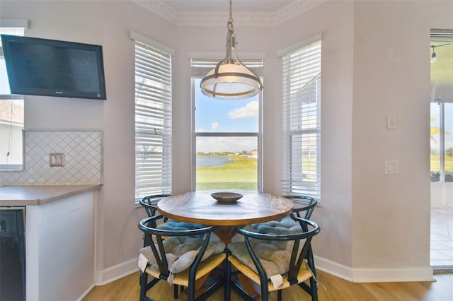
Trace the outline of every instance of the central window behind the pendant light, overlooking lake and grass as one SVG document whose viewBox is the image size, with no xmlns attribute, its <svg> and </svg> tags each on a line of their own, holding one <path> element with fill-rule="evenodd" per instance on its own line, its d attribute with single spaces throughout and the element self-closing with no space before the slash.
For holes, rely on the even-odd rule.
<svg viewBox="0 0 453 301">
<path fill-rule="evenodd" d="M 260 93 L 246 100 L 216 100 L 200 90 L 218 60 L 192 59 L 194 103 L 193 190 L 261 191 Z M 258 76 L 263 59 L 242 60 Z"/>
</svg>

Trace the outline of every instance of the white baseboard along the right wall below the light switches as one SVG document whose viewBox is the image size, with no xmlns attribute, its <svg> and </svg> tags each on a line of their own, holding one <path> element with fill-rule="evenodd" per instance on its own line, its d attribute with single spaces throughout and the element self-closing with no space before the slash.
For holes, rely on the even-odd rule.
<svg viewBox="0 0 453 301">
<path fill-rule="evenodd" d="M 350 268 L 315 256 L 316 268 L 356 283 L 435 281 L 430 266 L 417 268 Z"/>
</svg>

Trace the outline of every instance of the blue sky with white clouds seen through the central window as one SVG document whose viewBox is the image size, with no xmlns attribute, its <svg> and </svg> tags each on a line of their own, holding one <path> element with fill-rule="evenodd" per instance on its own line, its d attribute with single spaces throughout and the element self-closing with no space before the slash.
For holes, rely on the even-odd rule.
<svg viewBox="0 0 453 301">
<path fill-rule="evenodd" d="M 246 100 L 208 98 L 195 80 L 195 131 L 197 132 L 258 132 L 258 95 Z M 251 151 L 257 149 L 257 139 L 203 137 L 197 139 L 197 152 Z"/>
</svg>

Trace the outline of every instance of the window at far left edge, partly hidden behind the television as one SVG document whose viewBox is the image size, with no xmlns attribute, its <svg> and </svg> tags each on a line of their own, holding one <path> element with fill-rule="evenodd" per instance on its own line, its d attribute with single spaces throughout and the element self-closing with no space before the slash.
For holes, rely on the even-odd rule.
<svg viewBox="0 0 453 301">
<path fill-rule="evenodd" d="M 25 28 L 0 28 L 0 34 L 23 35 Z M 9 90 L 0 40 L 0 170 L 23 168 L 23 95 Z"/>
</svg>

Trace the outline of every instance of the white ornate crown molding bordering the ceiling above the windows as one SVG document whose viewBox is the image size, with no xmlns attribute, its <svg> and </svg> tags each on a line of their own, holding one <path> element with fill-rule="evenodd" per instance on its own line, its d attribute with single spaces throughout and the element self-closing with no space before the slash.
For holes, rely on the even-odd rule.
<svg viewBox="0 0 453 301">
<path fill-rule="evenodd" d="M 176 11 L 160 0 L 130 0 L 146 8 L 169 22 L 180 26 L 219 26 L 226 24 L 228 11 L 224 13 L 185 12 Z M 278 11 L 270 13 L 241 13 L 233 12 L 234 23 L 244 26 L 275 26 L 301 13 L 311 10 L 328 0 L 293 1 Z"/>
</svg>

